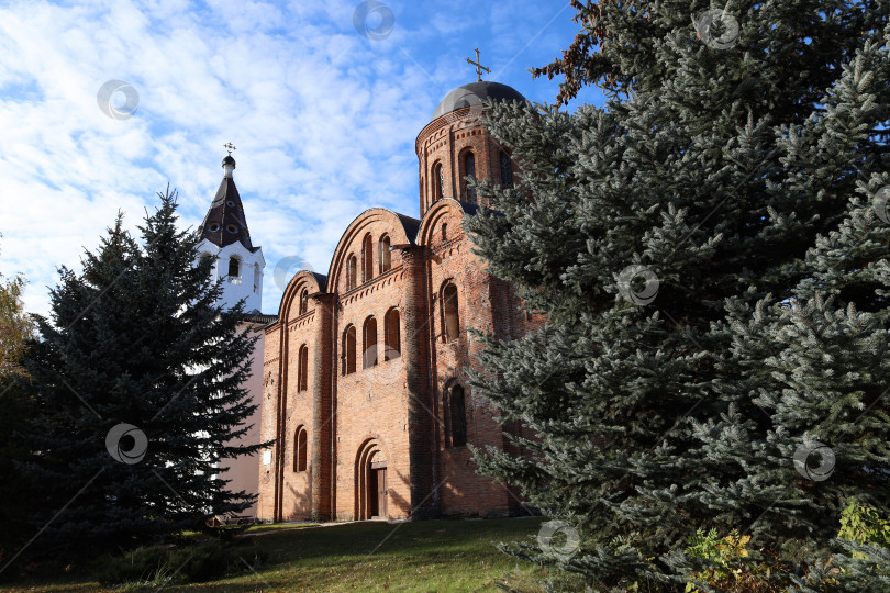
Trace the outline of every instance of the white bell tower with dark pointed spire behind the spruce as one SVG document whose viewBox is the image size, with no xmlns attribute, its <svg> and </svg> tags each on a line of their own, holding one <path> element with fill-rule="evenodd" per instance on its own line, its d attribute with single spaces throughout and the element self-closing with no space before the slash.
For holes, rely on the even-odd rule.
<svg viewBox="0 0 890 593">
<path fill-rule="evenodd" d="M 229 156 L 222 164 L 222 183 L 201 223 L 198 257 L 216 258 L 212 279 L 222 281 L 223 294 L 219 301 L 222 307 L 234 306 L 244 299 L 244 312 L 259 314 L 263 310 L 263 270 L 266 260 L 263 248 L 254 247 L 251 243 L 244 206 L 235 187 L 235 159 L 232 158 L 235 147 L 230 143 L 226 148 Z"/>
</svg>

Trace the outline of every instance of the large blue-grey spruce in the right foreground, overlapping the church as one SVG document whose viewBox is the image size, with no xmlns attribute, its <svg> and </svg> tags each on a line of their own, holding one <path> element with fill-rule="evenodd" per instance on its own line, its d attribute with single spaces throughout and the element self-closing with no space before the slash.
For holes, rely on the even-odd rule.
<svg viewBox="0 0 890 593">
<path fill-rule="evenodd" d="M 887 590 L 835 537 L 890 492 L 890 3 L 572 5 L 537 74 L 608 102 L 493 107 L 522 182 L 467 222 L 547 318 L 486 340 L 530 435 L 477 460 L 580 538 L 505 549 L 598 591 Z M 745 549 L 692 553 L 711 529 Z"/>
</svg>

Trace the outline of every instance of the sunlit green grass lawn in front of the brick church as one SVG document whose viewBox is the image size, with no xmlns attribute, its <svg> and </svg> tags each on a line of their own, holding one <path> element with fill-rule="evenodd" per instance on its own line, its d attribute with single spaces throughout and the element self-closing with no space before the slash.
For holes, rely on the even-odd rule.
<svg viewBox="0 0 890 593">
<path fill-rule="evenodd" d="M 282 530 L 267 529 L 244 545 L 266 561 L 257 573 L 209 583 L 175 586 L 175 591 L 497 591 L 494 582 L 534 590 L 546 575 L 538 568 L 499 552 L 493 544 L 537 534 L 542 519 L 425 521 L 387 524 L 353 523 Z M 247 542 L 245 542 L 247 544 Z M 20 583 L 5 591 L 103 591 L 84 579 Z M 133 589 L 131 589 L 132 591 Z"/>
</svg>

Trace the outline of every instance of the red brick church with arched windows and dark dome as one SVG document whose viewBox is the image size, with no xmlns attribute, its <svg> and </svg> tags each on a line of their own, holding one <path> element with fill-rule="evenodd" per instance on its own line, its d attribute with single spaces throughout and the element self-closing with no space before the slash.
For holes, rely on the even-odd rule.
<svg viewBox="0 0 890 593">
<path fill-rule="evenodd" d="M 480 346 L 539 320 L 486 272 L 464 234 L 480 204 L 466 179 L 510 187 L 510 155 L 481 104 L 525 101 L 478 81 L 449 92 L 415 142 L 420 217 L 371 208 L 346 227 L 327 275 L 298 272 L 265 326 L 257 518 L 499 516 L 514 492 L 476 473 L 467 444 L 503 449 L 503 426 L 474 393 Z M 516 430 L 516 427 L 511 427 Z"/>
</svg>

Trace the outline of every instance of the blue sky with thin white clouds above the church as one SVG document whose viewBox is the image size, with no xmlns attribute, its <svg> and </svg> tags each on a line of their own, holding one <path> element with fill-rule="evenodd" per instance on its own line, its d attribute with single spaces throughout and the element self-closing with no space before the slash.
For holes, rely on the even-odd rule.
<svg viewBox="0 0 890 593">
<path fill-rule="evenodd" d="M 232 142 L 263 310 L 277 312 L 275 276 L 296 270 L 276 266 L 326 273 L 368 208 L 419 216 L 414 139 L 476 80 L 476 47 L 486 80 L 554 101 L 557 81 L 527 70 L 568 47 L 572 13 L 567 0 L 4 2 L 0 272 L 24 273 L 25 307 L 46 313 L 56 268 L 79 269 L 119 210 L 134 230 L 169 182 L 183 225 L 199 224 Z M 129 102 L 110 99 L 123 119 L 99 107 L 109 80 L 130 86 Z M 602 96 L 566 109 L 583 102 Z"/>
</svg>

